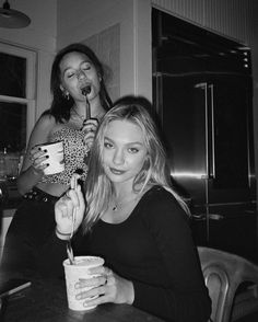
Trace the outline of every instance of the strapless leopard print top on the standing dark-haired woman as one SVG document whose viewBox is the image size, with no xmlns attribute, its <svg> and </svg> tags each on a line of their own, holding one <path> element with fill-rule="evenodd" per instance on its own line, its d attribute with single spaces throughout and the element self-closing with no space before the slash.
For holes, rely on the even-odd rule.
<svg viewBox="0 0 258 322">
<path fill-rule="evenodd" d="M 62 127 L 54 133 L 51 142 L 63 141 L 64 170 L 60 173 L 44 175 L 44 183 L 70 184 L 72 174 L 80 171 L 81 180 L 85 181 L 87 174 L 87 164 L 85 159 L 89 149 L 83 143 L 84 131 L 70 127 Z"/>
</svg>

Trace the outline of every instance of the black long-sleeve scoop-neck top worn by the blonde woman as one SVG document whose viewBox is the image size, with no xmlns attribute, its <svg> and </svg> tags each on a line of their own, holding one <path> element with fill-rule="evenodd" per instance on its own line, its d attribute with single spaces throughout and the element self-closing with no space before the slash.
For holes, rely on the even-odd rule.
<svg viewBox="0 0 258 322">
<path fill-rule="evenodd" d="M 39 267 L 45 274 L 63 273 L 64 244 L 52 235 L 44 246 Z M 73 248 L 78 255 L 104 257 L 106 266 L 131 280 L 133 306 L 165 321 L 208 321 L 211 302 L 188 218 L 164 188 L 146 192 L 124 222 L 99 220 L 91 233 L 79 232 Z M 46 256 L 48 263 L 51 256 L 50 271 Z"/>
</svg>

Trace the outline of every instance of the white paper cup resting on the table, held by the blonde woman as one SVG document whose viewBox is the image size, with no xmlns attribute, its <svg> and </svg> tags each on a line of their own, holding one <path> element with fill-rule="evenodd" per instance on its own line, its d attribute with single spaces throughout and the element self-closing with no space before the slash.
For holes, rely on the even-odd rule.
<svg viewBox="0 0 258 322">
<path fill-rule="evenodd" d="M 67 298 L 68 307 L 73 311 L 87 311 L 94 309 L 96 306 L 84 307 L 83 302 L 85 299 L 78 300 L 75 296 L 82 290 L 75 289 L 75 284 L 80 279 L 89 279 L 98 275 L 90 275 L 89 268 L 102 266 L 104 260 L 98 256 L 75 256 L 75 265 L 71 265 L 69 260 L 63 261 L 64 275 L 66 275 L 66 285 L 67 285 Z M 84 287 L 83 291 L 92 289 L 92 287 Z"/>
</svg>

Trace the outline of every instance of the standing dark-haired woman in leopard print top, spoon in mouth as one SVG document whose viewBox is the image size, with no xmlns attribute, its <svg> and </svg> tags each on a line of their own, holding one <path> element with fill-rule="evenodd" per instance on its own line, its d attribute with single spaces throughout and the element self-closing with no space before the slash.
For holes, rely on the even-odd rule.
<svg viewBox="0 0 258 322">
<path fill-rule="evenodd" d="M 79 172 L 85 181 L 87 156 L 98 120 L 112 105 L 103 66 L 83 44 L 71 44 L 57 54 L 50 89 L 51 106 L 31 134 L 17 179 L 17 189 L 24 200 L 7 233 L 2 269 L 20 273 L 34 269 L 37 248 L 55 226 L 54 204 L 69 188 L 74 173 Z M 55 141 L 63 141 L 64 171 L 45 175 L 48 154 L 38 145 Z"/>
</svg>

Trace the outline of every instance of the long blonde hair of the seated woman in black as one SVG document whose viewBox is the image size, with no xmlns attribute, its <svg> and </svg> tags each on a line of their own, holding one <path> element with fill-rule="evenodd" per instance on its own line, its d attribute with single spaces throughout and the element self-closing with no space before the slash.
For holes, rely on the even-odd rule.
<svg viewBox="0 0 258 322">
<path fill-rule="evenodd" d="M 125 96 L 118 100 L 112 110 L 103 117 L 91 150 L 89 174 L 85 183 L 86 214 L 83 221 L 84 232 L 91 230 L 102 215 L 107 210 L 113 198 L 114 187 L 103 168 L 104 137 L 113 120 L 128 120 L 138 125 L 143 134 L 146 148 L 146 160 L 134 177 L 133 191 L 141 193 L 145 186 L 161 185 L 169 191 L 186 212 L 188 207 L 171 185 L 169 171 L 164 147 L 161 142 L 156 125 L 146 110 L 142 97 Z M 150 104 L 150 103 L 149 103 Z M 141 189 L 137 187 L 141 186 Z"/>
</svg>

